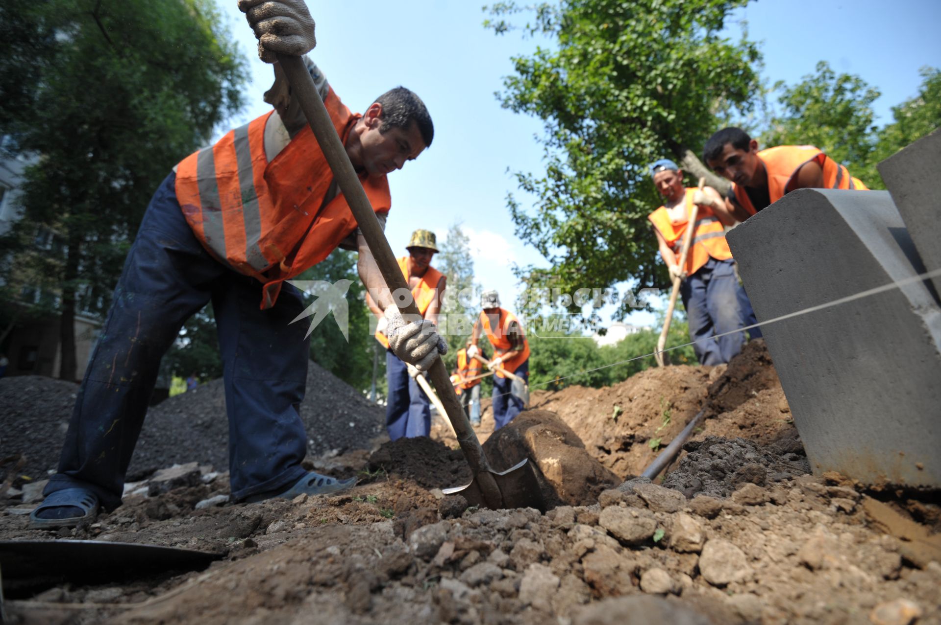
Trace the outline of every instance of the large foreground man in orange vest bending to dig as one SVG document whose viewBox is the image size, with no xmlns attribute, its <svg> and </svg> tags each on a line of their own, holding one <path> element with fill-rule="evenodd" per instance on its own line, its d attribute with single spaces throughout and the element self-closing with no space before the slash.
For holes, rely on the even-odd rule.
<svg viewBox="0 0 941 625">
<path fill-rule="evenodd" d="M 239 8 L 263 61 L 298 60 L 314 47 L 302 0 L 240 0 Z M 343 142 L 338 151 L 384 219 L 391 207 L 386 176 L 431 145 L 431 117 L 404 87 L 353 114 L 306 63 L 304 78 L 319 90 Z M 232 499 L 322 494 L 354 483 L 301 467 L 308 437 L 297 408 L 310 350 L 305 324 L 292 323 L 305 305 L 285 282 L 344 244 L 359 251 L 366 289 L 383 293 L 385 282 L 353 200 L 338 191 L 327 164 L 333 152 L 304 123 L 296 88 L 279 65 L 275 76 L 265 93 L 274 110 L 183 159 L 153 195 L 76 398 L 58 472 L 30 515 L 33 527 L 73 526 L 120 506 L 160 359 L 183 322 L 210 301 L 224 363 Z M 391 352 L 403 362 L 423 371 L 447 351 L 430 321 L 404 319 L 388 294 L 375 304 Z"/>
</svg>

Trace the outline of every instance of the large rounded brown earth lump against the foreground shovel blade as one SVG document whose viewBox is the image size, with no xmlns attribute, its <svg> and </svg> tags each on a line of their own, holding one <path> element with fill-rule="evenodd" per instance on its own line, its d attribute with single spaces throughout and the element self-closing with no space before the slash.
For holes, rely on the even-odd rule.
<svg viewBox="0 0 941 625">
<path fill-rule="evenodd" d="M 598 501 L 599 492 L 620 482 L 588 454 L 582 440 L 562 419 L 545 410 L 518 414 L 487 439 L 484 452 L 498 471 L 524 458 L 534 462 L 546 487 L 543 496 L 549 508 L 590 506 Z"/>
</svg>

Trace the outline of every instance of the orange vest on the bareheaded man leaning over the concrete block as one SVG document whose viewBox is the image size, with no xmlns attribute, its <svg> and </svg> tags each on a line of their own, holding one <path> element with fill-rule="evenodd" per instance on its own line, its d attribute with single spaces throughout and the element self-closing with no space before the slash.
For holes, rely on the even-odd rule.
<svg viewBox="0 0 941 625">
<path fill-rule="evenodd" d="M 820 148 L 814 148 L 813 146 L 777 146 L 776 148 L 762 149 L 758 152 L 758 158 L 761 159 L 765 171 L 768 172 L 768 196 L 772 204 L 784 197 L 789 191 L 793 191 L 789 187 L 791 182 L 797 179 L 798 170 L 811 161 L 816 161 L 823 169 L 824 189 L 869 191 L 869 187 L 863 184 L 862 180 L 853 178 L 845 166 L 838 164 L 824 154 Z M 732 182 L 732 189 L 735 191 L 735 199 L 739 201 L 745 211 L 753 215 L 758 212 L 752 204 L 751 198 L 745 193 L 744 188 Z"/>
</svg>

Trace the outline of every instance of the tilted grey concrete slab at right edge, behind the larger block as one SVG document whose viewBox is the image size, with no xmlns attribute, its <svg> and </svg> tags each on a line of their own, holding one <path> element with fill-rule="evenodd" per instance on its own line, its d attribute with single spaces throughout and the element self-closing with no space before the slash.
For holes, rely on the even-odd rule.
<svg viewBox="0 0 941 625">
<path fill-rule="evenodd" d="M 941 269 L 941 130 L 918 139 L 879 164 L 879 173 L 928 271 Z M 919 272 L 920 273 L 920 272 Z M 933 278 L 935 295 L 941 276 Z"/>
</svg>

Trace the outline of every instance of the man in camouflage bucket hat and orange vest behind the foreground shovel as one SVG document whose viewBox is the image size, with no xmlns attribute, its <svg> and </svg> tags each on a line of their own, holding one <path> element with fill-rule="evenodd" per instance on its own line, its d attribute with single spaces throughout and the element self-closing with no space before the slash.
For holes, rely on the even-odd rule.
<svg viewBox="0 0 941 625">
<path fill-rule="evenodd" d="M 412 298 L 422 318 L 438 326 L 441 296 L 447 286 L 447 277 L 431 266 L 438 253 L 435 233 L 415 230 L 406 247 L 408 256 L 399 258 L 399 268 L 405 276 Z M 386 430 L 393 441 L 406 437 L 431 434 L 431 408 L 429 393 L 418 380 L 425 375 L 395 355 L 386 336 L 387 320 L 367 291 L 366 304 L 379 319 L 375 338 L 386 348 L 386 381 L 389 383 L 389 402 L 386 404 Z M 395 309 L 398 310 L 397 308 Z M 423 382 L 423 381 L 422 381 Z M 444 417 L 444 414 L 441 414 Z"/>
</svg>

